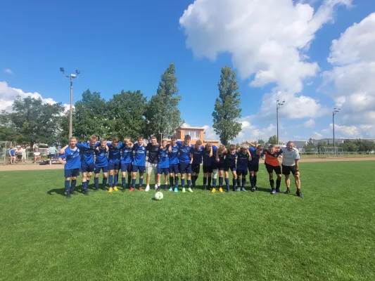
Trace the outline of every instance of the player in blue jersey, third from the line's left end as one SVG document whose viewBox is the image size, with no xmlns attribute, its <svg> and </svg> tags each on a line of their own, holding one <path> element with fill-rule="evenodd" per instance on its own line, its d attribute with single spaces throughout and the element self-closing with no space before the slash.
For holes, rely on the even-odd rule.
<svg viewBox="0 0 375 281">
<path fill-rule="evenodd" d="M 108 146 L 107 140 L 105 138 L 101 138 L 100 145 L 94 151 L 95 153 L 95 177 L 94 177 L 94 185 L 95 191 L 99 190 L 99 174 L 103 171 L 103 181 L 102 181 L 102 190 L 107 190 L 107 178 L 108 178 Z"/>
</svg>

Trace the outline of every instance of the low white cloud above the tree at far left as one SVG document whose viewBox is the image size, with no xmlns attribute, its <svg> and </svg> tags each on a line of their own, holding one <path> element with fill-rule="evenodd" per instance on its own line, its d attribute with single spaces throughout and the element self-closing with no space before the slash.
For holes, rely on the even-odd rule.
<svg viewBox="0 0 375 281">
<path fill-rule="evenodd" d="M 50 103 L 51 105 L 57 103 L 53 98 L 43 98 L 40 93 L 34 92 L 24 92 L 21 89 L 9 87 L 6 81 L 0 81 L 0 110 L 12 110 L 13 100 L 16 96 L 21 96 L 22 98 L 32 97 L 41 98 L 42 103 Z M 69 110 L 70 105 L 63 104 L 65 110 Z"/>
</svg>

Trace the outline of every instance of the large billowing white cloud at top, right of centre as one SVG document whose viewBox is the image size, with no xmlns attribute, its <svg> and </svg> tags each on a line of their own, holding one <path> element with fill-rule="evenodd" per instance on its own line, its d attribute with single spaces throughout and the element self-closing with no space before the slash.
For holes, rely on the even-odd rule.
<svg viewBox="0 0 375 281">
<path fill-rule="evenodd" d="M 304 79 L 319 71 L 305 51 L 315 32 L 333 19 L 338 4 L 348 6 L 351 0 L 324 0 L 317 11 L 293 0 L 196 0 L 179 23 L 196 57 L 215 60 L 230 53 L 240 77 L 253 77 L 251 86 L 277 85 L 263 98 L 261 116 L 274 115 L 281 91 L 287 100 L 285 117 L 317 117 L 326 113 L 319 101 L 296 93 L 303 90 Z"/>
</svg>

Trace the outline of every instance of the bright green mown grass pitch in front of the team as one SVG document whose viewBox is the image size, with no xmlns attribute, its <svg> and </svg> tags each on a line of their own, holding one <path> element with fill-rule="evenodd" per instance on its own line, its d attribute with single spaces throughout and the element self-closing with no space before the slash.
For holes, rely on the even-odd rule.
<svg viewBox="0 0 375 281">
<path fill-rule="evenodd" d="M 0 280 L 375 280 L 374 168 L 301 163 L 301 199 L 270 195 L 261 166 L 258 192 L 160 202 L 65 200 L 61 170 L 1 172 Z"/>
</svg>

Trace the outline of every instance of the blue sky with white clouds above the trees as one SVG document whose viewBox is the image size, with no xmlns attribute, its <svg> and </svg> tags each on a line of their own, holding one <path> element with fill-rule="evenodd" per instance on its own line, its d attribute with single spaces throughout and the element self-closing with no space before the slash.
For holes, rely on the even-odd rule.
<svg viewBox="0 0 375 281">
<path fill-rule="evenodd" d="M 141 90 L 150 98 L 170 63 L 186 125 L 218 140 L 212 111 L 225 65 L 237 74 L 242 131 L 304 141 L 375 138 L 375 1 L 2 1 L 0 110 L 15 96 L 68 106 L 65 74 L 83 91 Z"/>
</svg>

